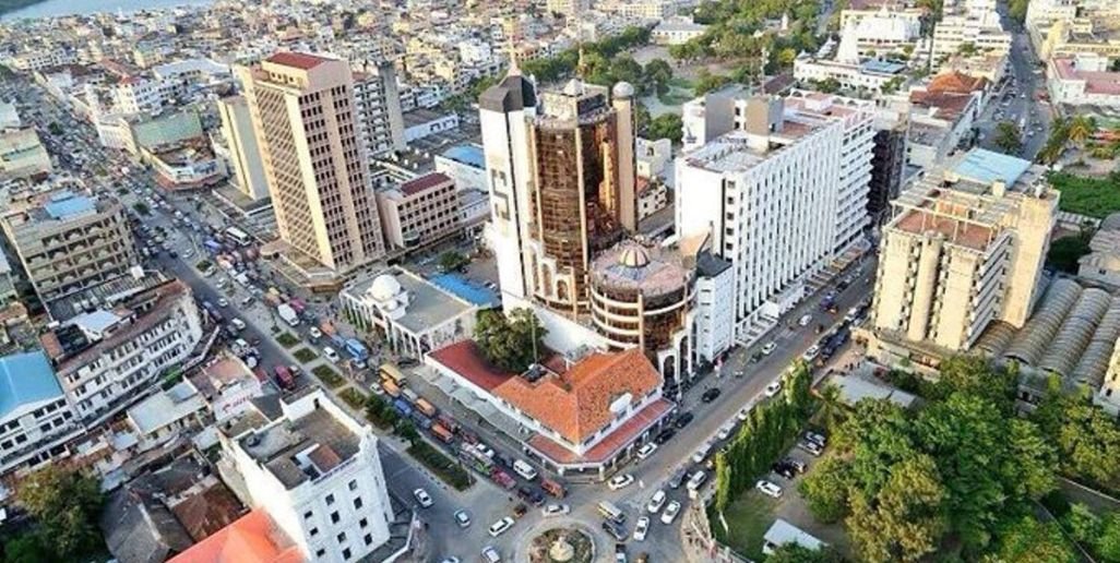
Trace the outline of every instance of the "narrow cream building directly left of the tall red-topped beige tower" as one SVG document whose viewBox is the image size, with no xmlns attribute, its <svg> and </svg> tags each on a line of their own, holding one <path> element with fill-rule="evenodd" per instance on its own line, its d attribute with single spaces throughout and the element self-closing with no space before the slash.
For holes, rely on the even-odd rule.
<svg viewBox="0 0 1120 563">
<path fill-rule="evenodd" d="M 228 148 L 230 163 L 237 190 L 258 200 L 269 197 L 269 180 L 264 175 L 261 149 L 253 131 L 253 116 L 244 96 L 228 96 L 217 101 L 222 118 L 222 137 Z"/>
</svg>

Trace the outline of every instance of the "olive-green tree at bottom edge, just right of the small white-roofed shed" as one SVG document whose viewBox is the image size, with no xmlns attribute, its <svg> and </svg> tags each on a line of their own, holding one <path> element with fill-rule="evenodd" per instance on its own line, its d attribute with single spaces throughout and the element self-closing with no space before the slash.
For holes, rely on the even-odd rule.
<svg viewBox="0 0 1120 563">
<path fill-rule="evenodd" d="M 933 458 L 915 454 L 892 466 L 877 495 L 852 495 L 846 522 L 860 555 L 867 561 L 918 561 L 935 552 L 948 527 L 945 497 Z"/>
</svg>

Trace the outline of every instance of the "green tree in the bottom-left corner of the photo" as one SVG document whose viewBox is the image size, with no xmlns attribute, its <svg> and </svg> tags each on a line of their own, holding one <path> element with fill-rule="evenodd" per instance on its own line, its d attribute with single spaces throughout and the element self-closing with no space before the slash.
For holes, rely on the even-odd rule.
<svg viewBox="0 0 1120 563">
<path fill-rule="evenodd" d="M 17 499 L 59 559 L 81 559 L 101 544 L 97 516 L 103 498 L 96 479 L 48 466 L 22 480 Z"/>
</svg>

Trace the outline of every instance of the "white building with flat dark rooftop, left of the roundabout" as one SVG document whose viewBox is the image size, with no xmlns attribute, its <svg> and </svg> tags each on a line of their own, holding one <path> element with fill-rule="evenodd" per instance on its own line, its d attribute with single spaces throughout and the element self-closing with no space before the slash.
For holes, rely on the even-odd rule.
<svg viewBox="0 0 1120 563">
<path fill-rule="evenodd" d="M 389 542 L 393 522 L 377 438 L 310 387 L 222 429 L 245 500 L 263 508 L 307 561 L 344 563 Z"/>
</svg>

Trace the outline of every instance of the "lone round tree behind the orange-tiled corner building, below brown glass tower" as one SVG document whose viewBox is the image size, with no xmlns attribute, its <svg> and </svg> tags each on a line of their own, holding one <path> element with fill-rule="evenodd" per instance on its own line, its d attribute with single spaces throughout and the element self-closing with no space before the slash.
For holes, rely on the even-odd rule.
<svg viewBox="0 0 1120 563">
<path fill-rule="evenodd" d="M 514 309 L 506 317 L 498 311 L 479 311 L 475 344 L 486 359 L 505 372 L 522 373 L 540 359 L 548 330 L 529 309 Z"/>
</svg>

